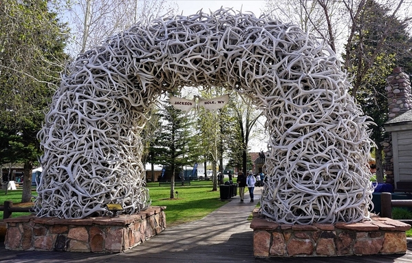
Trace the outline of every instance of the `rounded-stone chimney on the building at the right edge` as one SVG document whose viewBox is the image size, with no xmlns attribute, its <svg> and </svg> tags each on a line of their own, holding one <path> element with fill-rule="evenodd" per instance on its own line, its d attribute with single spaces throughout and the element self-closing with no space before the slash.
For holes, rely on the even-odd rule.
<svg viewBox="0 0 412 263">
<path fill-rule="evenodd" d="M 412 109 L 411 82 L 409 76 L 402 72 L 402 67 L 395 67 L 393 74 L 387 77 L 388 120 Z M 384 169 L 386 182 L 393 184 L 392 136 L 389 133 L 382 143 L 384 149 Z"/>
</svg>

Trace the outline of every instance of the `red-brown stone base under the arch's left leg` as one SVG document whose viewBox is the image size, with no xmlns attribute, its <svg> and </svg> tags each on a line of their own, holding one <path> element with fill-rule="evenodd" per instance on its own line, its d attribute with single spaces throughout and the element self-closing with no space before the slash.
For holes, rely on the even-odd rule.
<svg viewBox="0 0 412 263">
<path fill-rule="evenodd" d="M 22 216 L 4 220 L 4 244 L 10 250 L 120 253 L 166 228 L 166 207 L 134 215 L 85 219 Z"/>
</svg>

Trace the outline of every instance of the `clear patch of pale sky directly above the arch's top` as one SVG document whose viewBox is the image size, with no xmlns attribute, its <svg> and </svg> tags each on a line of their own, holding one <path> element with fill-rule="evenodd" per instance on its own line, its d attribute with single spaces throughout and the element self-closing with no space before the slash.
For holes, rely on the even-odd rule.
<svg viewBox="0 0 412 263">
<path fill-rule="evenodd" d="M 256 17 L 259 17 L 261 10 L 265 6 L 264 0 L 168 0 L 169 2 L 175 2 L 179 6 L 178 14 L 190 15 L 196 14 L 199 10 L 203 9 L 203 12 L 215 12 L 221 7 L 233 8 L 235 11 L 242 12 L 251 11 Z M 182 13 L 183 12 L 183 13 Z"/>
</svg>

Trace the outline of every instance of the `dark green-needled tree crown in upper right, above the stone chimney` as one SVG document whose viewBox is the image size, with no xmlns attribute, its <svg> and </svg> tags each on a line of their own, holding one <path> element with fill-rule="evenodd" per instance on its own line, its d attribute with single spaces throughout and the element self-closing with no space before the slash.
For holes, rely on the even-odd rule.
<svg viewBox="0 0 412 263">
<path fill-rule="evenodd" d="M 348 10 L 350 6 L 344 1 Z M 382 78 L 379 62 L 391 63 L 394 56 L 402 56 L 410 50 L 406 28 L 411 18 L 400 20 L 398 12 L 403 0 L 395 10 L 374 0 L 362 0 L 354 14 L 351 14 L 351 30 L 344 54 L 344 67 L 354 75 L 352 96 L 376 74 Z M 393 6 L 393 3 L 391 3 Z M 383 56 L 383 57 L 382 57 Z M 393 68 L 393 66 L 392 66 Z"/>
</svg>

